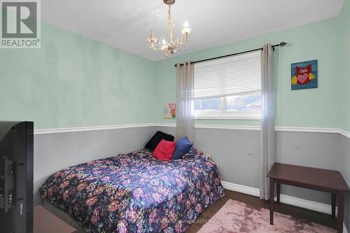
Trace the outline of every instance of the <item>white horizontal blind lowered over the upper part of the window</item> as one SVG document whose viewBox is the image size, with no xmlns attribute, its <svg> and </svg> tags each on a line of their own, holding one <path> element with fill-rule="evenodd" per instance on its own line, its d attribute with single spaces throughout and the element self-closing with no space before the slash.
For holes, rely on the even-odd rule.
<svg viewBox="0 0 350 233">
<path fill-rule="evenodd" d="M 260 51 L 195 64 L 195 99 L 261 90 Z"/>
</svg>

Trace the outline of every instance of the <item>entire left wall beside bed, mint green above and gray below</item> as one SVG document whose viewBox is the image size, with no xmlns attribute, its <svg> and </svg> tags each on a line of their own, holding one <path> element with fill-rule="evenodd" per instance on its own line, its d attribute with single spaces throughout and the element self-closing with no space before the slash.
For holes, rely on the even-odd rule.
<svg viewBox="0 0 350 233">
<path fill-rule="evenodd" d="M 34 129 L 153 122 L 154 62 L 41 24 L 41 49 L 1 49 L 0 120 Z M 143 148 L 152 127 L 34 135 L 34 203 L 55 171 Z"/>
</svg>

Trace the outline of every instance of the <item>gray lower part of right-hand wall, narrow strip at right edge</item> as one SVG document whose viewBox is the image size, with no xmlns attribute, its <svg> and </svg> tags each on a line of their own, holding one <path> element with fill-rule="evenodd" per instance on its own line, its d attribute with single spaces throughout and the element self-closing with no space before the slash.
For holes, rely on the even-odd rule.
<svg viewBox="0 0 350 233">
<path fill-rule="evenodd" d="M 344 179 L 348 185 L 350 185 L 350 139 L 343 135 L 338 135 L 339 137 L 339 164 L 340 171 L 344 176 Z M 348 232 L 350 232 L 350 194 L 346 194 L 345 199 L 345 219 L 344 223 Z"/>
</svg>

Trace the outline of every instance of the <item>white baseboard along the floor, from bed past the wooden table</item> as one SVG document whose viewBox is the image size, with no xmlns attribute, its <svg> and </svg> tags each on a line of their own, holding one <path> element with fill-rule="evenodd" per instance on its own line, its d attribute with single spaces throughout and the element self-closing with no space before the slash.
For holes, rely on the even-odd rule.
<svg viewBox="0 0 350 233">
<path fill-rule="evenodd" d="M 230 183 L 227 181 L 221 181 L 221 184 L 223 185 L 223 188 L 226 190 L 231 190 L 235 192 L 241 192 L 246 195 L 251 195 L 254 197 L 260 197 L 260 190 L 258 188 L 252 188 L 244 185 L 237 185 L 235 183 Z M 301 207 L 304 209 L 309 209 L 311 211 L 317 211 L 321 213 L 327 213 L 331 214 L 332 213 L 332 206 L 328 204 L 323 204 L 320 202 L 312 202 L 306 199 L 301 199 L 297 197 L 291 197 L 288 195 L 281 195 L 280 196 L 280 201 L 281 203 L 288 204 L 291 206 L 297 206 Z M 337 214 L 337 208 L 335 209 L 335 213 Z M 344 233 L 348 233 L 346 230 L 346 227 L 344 225 Z"/>
</svg>

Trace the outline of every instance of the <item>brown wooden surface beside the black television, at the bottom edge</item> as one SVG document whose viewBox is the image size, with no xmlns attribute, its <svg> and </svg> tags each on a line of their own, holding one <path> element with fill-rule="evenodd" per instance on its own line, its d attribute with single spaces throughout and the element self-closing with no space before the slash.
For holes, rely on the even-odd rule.
<svg viewBox="0 0 350 233">
<path fill-rule="evenodd" d="M 57 218 L 43 206 L 34 206 L 34 233 L 78 233 L 71 225 Z"/>
</svg>

